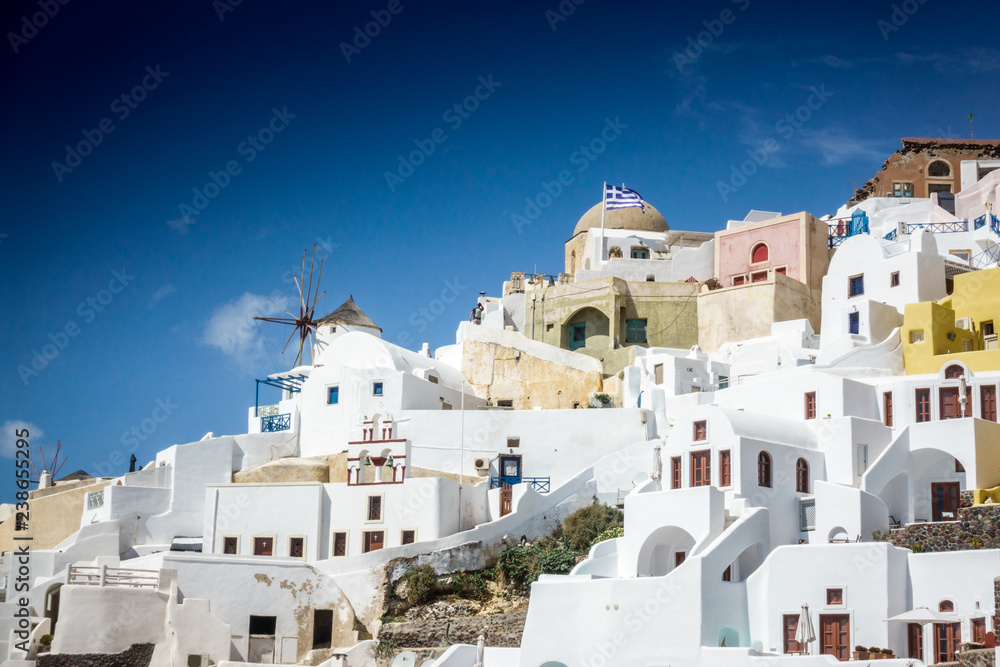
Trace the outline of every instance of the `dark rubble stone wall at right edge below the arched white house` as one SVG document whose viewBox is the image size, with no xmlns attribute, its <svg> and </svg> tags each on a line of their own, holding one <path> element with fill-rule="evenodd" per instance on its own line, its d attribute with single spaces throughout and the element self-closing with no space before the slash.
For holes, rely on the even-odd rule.
<svg viewBox="0 0 1000 667">
<path fill-rule="evenodd" d="M 897 547 L 919 544 L 925 552 L 1000 549 L 1000 505 L 977 505 L 958 510 L 958 521 L 920 523 L 889 534 Z"/>
</svg>

